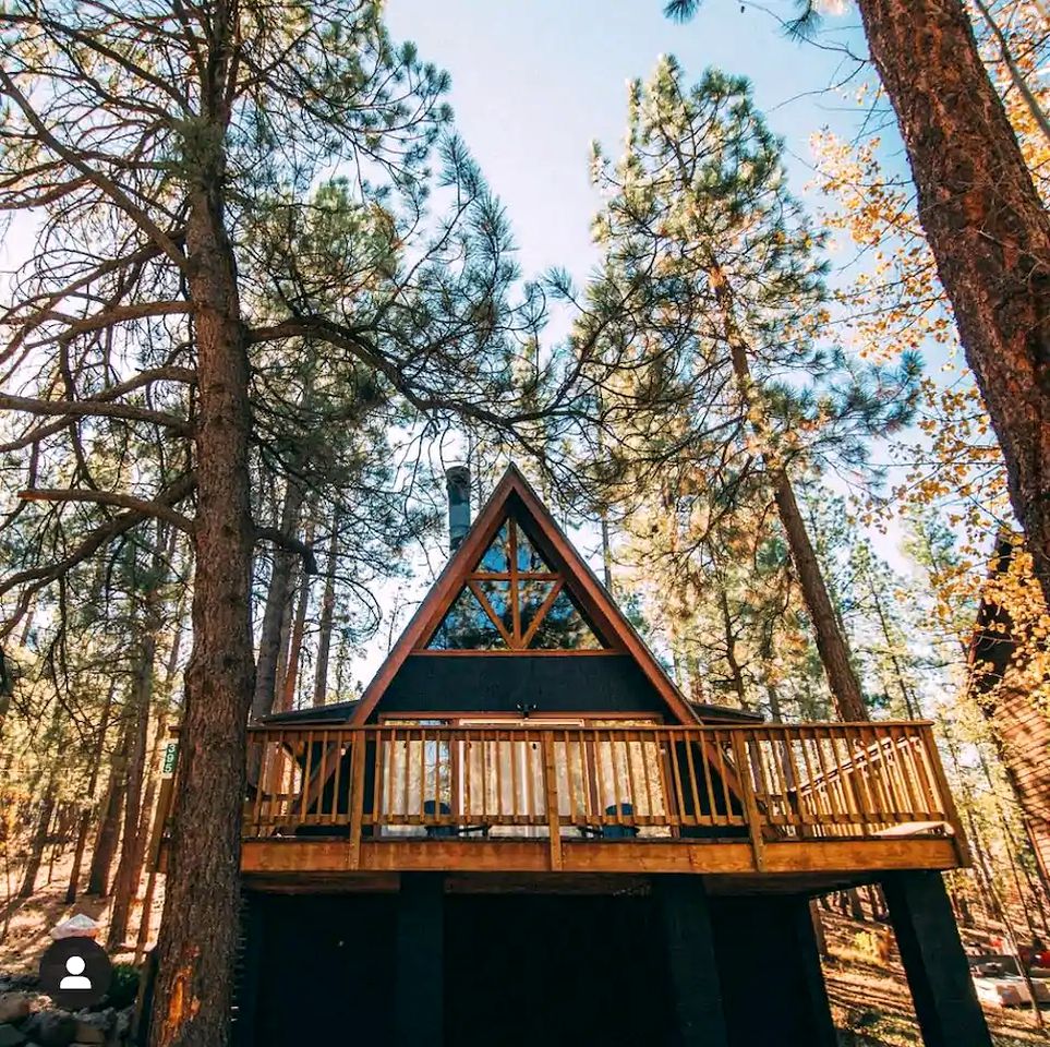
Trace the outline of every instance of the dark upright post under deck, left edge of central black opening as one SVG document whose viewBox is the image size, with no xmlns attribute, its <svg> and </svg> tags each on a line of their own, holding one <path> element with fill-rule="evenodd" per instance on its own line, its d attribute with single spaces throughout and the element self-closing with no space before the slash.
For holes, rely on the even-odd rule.
<svg viewBox="0 0 1050 1047">
<path fill-rule="evenodd" d="M 445 1042 L 445 878 L 406 872 L 398 895 L 394 1047 Z"/>
</svg>

